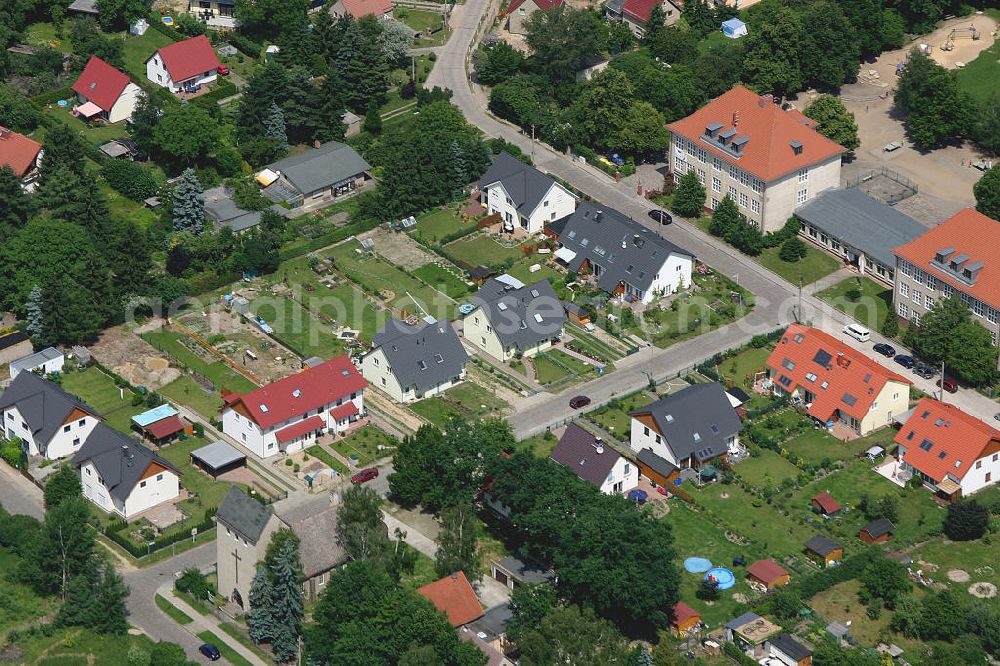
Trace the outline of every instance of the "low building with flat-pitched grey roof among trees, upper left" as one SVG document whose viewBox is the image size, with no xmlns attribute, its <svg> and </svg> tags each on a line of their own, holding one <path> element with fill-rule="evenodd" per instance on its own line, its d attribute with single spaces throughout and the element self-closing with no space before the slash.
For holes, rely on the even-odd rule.
<svg viewBox="0 0 1000 666">
<path fill-rule="evenodd" d="M 371 165 L 347 144 L 328 141 L 267 165 L 257 174 L 262 192 L 293 206 L 333 202 L 374 181 Z"/>
</svg>

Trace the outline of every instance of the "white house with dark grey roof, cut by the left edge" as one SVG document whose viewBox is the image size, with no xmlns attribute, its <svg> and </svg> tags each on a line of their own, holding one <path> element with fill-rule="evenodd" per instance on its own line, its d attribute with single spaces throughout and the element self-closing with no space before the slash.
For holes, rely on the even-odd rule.
<svg viewBox="0 0 1000 666">
<path fill-rule="evenodd" d="M 0 395 L 0 419 L 3 434 L 20 437 L 29 456 L 56 460 L 79 451 L 101 416 L 57 384 L 21 372 Z"/>
</svg>

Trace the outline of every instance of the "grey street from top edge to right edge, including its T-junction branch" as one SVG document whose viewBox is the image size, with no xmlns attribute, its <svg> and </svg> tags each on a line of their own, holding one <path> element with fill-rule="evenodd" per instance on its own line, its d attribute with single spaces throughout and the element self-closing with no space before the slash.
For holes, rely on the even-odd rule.
<svg viewBox="0 0 1000 666">
<path fill-rule="evenodd" d="M 656 225 L 650 221 L 647 214 L 656 207 L 636 195 L 629 187 L 615 183 L 604 172 L 574 162 L 570 157 L 540 142 L 532 142 L 519 128 L 487 112 L 486 92 L 482 86 L 470 82 L 465 69 L 465 59 L 481 17 L 487 13 L 490 3 L 496 1 L 466 0 L 462 12 L 457 17 L 457 25 L 454 26 L 455 31 L 451 39 L 438 51 L 438 59 L 426 85 L 452 90 L 454 93 L 452 102 L 462 109 L 470 123 L 478 126 L 485 134 L 502 138 L 517 145 L 525 153 L 532 154 L 534 163 L 539 169 L 558 175 L 588 196 L 631 215 L 633 219 L 655 229 Z M 574 412 L 568 405 L 571 395 L 586 394 L 592 398 L 596 406 L 612 396 L 629 393 L 643 386 L 649 375 L 657 379 L 673 376 L 716 352 L 742 345 L 756 334 L 770 332 L 796 319 L 800 300 L 796 286 L 703 233 L 677 215 L 674 215 L 674 220 L 672 225 L 660 227 L 658 232 L 664 238 L 686 248 L 709 266 L 735 278 L 741 286 L 753 292 L 757 303 L 754 310 L 734 324 L 678 343 L 668 349 L 652 348 L 633 354 L 617 362 L 618 369 L 615 372 L 575 386 L 562 394 L 540 393 L 525 399 L 517 405 L 517 418 L 513 423 L 514 431 L 519 438 L 531 436 L 548 426 L 572 418 Z M 801 308 L 800 319 L 809 321 L 814 326 L 870 353 L 870 346 L 860 345 L 843 335 L 841 329 L 849 320 L 843 313 L 818 298 L 806 295 L 801 298 Z M 873 332 L 872 342 L 886 341 Z M 897 349 L 900 347 L 898 342 L 894 341 L 892 344 Z M 927 393 L 936 390 L 933 380 L 922 380 L 916 376 L 911 378 L 918 388 Z M 947 400 L 986 420 L 991 419 L 997 411 L 995 402 L 971 390 L 962 390 L 958 394 L 948 396 Z"/>
</svg>

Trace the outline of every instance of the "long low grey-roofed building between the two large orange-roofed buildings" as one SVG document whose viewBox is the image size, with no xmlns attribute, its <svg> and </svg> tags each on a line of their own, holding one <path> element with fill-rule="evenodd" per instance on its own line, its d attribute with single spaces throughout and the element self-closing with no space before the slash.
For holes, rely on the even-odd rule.
<svg viewBox="0 0 1000 666">
<path fill-rule="evenodd" d="M 890 287 L 896 273 L 892 249 L 906 245 L 927 227 L 857 188 L 818 194 L 796 209 L 799 233 L 846 263 Z"/>
</svg>

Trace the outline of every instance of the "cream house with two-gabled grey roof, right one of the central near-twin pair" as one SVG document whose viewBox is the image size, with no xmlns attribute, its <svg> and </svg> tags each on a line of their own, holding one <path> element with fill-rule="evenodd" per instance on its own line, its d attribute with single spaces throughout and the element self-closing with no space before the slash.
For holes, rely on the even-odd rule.
<svg viewBox="0 0 1000 666">
<path fill-rule="evenodd" d="M 501 362 L 548 349 L 566 323 L 566 311 L 548 280 L 519 284 L 490 278 L 472 300 L 476 309 L 463 320 L 465 339 Z"/>
</svg>

